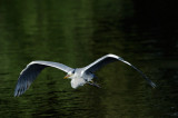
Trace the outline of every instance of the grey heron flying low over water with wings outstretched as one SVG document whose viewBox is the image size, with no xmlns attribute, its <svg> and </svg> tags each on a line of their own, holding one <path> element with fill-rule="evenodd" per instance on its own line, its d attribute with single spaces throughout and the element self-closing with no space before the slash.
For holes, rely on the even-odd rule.
<svg viewBox="0 0 178 118">
<path fill-rule="evenodd" d="M 52 61 L 32 61 L 21 71 L 14 89 L 14 97 L 22 95 L 30 87 L 30 85 L 33 82 L 33 80 L 37 78 L 40 71 L 47 67 L 53 67 L 67 72 L 65 79 L 71 79 L 71 87 L 75 89 L 79 86 L 83 86 L 85 83 L 99 87 L 97 83 L 92 81 L 92 79 L 96 77 L 93 72 L 103 67 L 105 65 L 118 60 L 132 67 L 147 80 L 147 82 L 151 87 L 156 87 L 156 85 L 150 79 L 148 79 L 148 77 L 144 75 L 142 71 L 137 69 L 130 62 L 123 60 L 121 57 L 116 55 L 106 55 L 83 68 L 70 68 L 66 65 Z"/>
</svg>

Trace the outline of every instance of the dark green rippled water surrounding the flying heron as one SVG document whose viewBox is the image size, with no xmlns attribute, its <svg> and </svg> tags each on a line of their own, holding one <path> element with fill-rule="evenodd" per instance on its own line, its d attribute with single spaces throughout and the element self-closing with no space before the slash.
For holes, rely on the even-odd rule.
<svg viewBox="0 0 178 118">
<path fill-rule="evenodd" d="M 178 117 L 177 11 L 171 0 L 1 0 L 0 117 Z M 107 53 L 141 69 L 157 88 L 115 62 L 97 72 L 101 89 L 73 90 L 65 72 L 47 68 L 13 97 L 32 60 L 83 67 Z"/>
</svg>

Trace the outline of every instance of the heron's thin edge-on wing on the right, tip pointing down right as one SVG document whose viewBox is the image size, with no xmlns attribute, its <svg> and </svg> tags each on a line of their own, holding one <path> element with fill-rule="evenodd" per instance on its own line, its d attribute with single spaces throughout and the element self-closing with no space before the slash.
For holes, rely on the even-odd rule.
<svg viewBox="0 0 178 118">
<path fill-rule="evenodd" d="M 83 71 L 85 72 L 95 72 L 96 70 L 100 69 L 105 65 L 113 62 L 113 61 L 118 61 L 118 60 L 120 60 L 120 61 L 127 63 L 128 66 L 132 67 L 135 70 L 137 70 L 147 80 L 147 82 L 150 86 L 152 86 L 154 88 L 156 87 L 156 85 L 150 79 L 148 79 L 148 77 L 146 75 L 144 75 L 141 70 L 139 70 L 138 68 L 132 66 L 130 62 L 123 60 L 122 58 L 120 58 L 120 57 L 118 57 L 116 55 L 106 55 L 106 56 L 99 58 L 95 62 L 92 62 L 89 66 L 85 67 Z"/>
</svg>

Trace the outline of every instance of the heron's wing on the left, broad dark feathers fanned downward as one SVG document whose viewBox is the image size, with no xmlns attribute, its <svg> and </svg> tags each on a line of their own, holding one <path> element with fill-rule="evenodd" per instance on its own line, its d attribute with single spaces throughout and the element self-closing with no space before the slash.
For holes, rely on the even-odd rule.
<svg viewBox="0 0 178 118">
<path fill-rule="evenodd" d="M 32 61 L 21 71 L 14 89 L 14 97 L 22 95 L 30 87 L 41 70 L 46 67 L 55 67 L 57 69 L 63 70 L 65 72 L 73 70 L 70 67 L 58 62 Z"/>
</svg>

